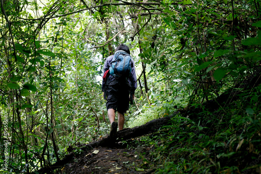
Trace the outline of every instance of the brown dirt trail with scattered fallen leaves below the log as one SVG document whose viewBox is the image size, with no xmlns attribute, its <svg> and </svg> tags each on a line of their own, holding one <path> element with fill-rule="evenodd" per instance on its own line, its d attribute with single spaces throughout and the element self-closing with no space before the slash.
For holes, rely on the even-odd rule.
<svg viewBox="0 0 261 174">
<path fill-rule="evenodd" d="M 132 139 L 130 141 L 136 141 Z M 141 142 L 142 143 L 142 142 Z M 57 171 L 59 174 L 88 174 L 88 173 L 143 173 L 156 171 L 157 166 L 143 158 L 150 156 L 151 147 L 127 147 L 126 142 L 115 143 L 111 147 L 98 147 L 82 151 L 75 160 Z M 147 162 L 146 162 L 147 161 Z"/>
</svg>

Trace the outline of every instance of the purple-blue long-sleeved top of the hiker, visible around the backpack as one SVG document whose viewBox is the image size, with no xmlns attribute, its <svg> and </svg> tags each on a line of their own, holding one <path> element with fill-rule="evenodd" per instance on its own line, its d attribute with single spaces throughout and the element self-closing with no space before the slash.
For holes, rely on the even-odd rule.
<svg viewBox="0 0 261 174">
<path fill-rule="evenodd" d="M 103 68 L 103 75 L 104 75 L 105 71 L 107 71 L 110 68 L 113 56 L 114 55 L 111 55 L 106 58 L 106 61 L 104 63 L 104 68 Z M 134 64 L 133 59 L 132 59 L 132 62 Z M 118 83 L 118 81 L 115 80 L 115 77 L 112 77 L 112 75 L 109 75 L 107 80 L 109 80 L 109 85 L 114 85 L 114 84 Z M 129 76 L 127 82 L 129 83 L 129 86 L 131 85 L 131 82 L 132 82 L 133 87 L 134 87 L 133 88 L 133 93 L 134 93 L 135 89 L 137 88 L 137 77 L 136 77 L 136 72 L 135 72 L 135 66 L 133 66 L 133 68 L 131 68 L 131 75 Z M 102 80 L 102 91 L 103 92 L 104 92 L 104 88 L 105 88 L 105 82 L 104 82 L 104 80 Z"/>
</svg>

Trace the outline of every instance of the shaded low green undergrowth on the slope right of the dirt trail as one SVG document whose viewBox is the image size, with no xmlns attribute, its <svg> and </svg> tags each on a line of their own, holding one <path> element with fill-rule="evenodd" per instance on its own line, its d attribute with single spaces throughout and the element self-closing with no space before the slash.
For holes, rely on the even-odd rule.
<svg viewBox="0 0 261 174">
<path fill-rule="evenodd" d="M 258 96 L 258 95 L 254 95 Z M 195 119 L 177 115 L 158 134 L 145 136 L 156 173 L 260 173 L 261 114 L 258 97 L 243 97 Z M 146 119 L 146 118 L 145 118 Z M 144 160 L 145 161 L 145 160 Z"/>
</svg>

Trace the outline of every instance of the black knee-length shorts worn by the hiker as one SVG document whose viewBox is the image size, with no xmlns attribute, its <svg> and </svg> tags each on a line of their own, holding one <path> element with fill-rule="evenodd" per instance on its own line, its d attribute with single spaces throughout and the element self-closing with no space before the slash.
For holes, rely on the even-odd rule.
<svg viewBox="0 0 261 174">
<path fill-rule="evenodd" d="M 129 110 L 130 89 L 131 87 L 126 83 L 109 85 L 106 102 L 107 111 L 109 109 L 114 109 L 123 114 Z"/>
</svg>

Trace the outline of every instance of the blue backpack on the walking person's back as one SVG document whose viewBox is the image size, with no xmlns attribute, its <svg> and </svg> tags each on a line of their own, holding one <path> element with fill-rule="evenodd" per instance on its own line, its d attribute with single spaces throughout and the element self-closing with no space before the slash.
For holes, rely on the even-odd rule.
<svg viewBox="0 0 261 174">
<path fill-rule="evenodd" d="M 131 68 L 133 67 L 133 62 L 131 56 L 122 50 L 115 52 L 112 58 L 110 66 L 110 74 L 113 77 L 129 77 L 131 75 Z"/>
</svg>

